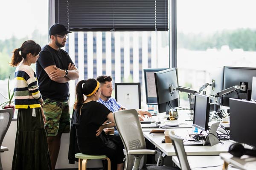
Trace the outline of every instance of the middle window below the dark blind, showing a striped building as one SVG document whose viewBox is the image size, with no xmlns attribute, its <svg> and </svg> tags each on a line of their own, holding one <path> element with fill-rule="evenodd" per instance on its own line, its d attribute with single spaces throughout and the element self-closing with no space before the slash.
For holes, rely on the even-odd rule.
<svg viewBox="0 0 256 170">
<path fill-rule="evenodd" d="M 113 77 L 113 83 L 141 82 L 145 96 L 143 68 L 169 67 L 168 34 L 168 31 L 73 32 L 65 48 L 78 63 L 79 79 L 106 74 Z M 70 83 L 70 94 L 73 103 L 75 82 Z M 142 100 L 145 104 L 145 97 Z"/>
</svg>

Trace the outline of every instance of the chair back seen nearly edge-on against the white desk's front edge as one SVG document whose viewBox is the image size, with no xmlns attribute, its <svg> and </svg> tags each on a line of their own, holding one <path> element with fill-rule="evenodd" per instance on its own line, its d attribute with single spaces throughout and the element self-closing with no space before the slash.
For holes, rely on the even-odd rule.
<svg viewBox="0 0 256 170">
<path fill-rule="evenodd" d="M 186 151 L 185 151 L 185 148 L 183 145 L 183 140 L 178 138 L 177 136 L 173 135 L 171 132 L 169 132 L 169 136 L 172 139 L 172 143 L 175 148 L 175 153 L 179 159 L 181 169 L 182 170 L 190 170 Z"/>
</svg>

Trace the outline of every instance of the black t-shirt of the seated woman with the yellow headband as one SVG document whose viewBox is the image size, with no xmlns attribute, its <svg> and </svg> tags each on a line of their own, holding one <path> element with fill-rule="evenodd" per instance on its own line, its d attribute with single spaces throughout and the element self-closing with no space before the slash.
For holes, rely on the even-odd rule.
<svg viewBox="0 0 256 170">
<path fill-rule="evenodd" d="M 107 120 L 111 111 L 99 102 L 84 103 L 81 108 L 80 125 L 76 125 L 76 136 L 79 150 L 83 153 L 108 145 L 108 140 L 96 130 Z"/>
</svg>

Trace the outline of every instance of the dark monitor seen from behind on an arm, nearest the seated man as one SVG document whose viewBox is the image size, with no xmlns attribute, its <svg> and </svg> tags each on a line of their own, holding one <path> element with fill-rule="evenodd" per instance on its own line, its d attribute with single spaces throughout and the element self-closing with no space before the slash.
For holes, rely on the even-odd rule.
<svg viewBox="0 0 256 170">
<path fill-rule="evenodd" d="M 163 113 L 178 107 L 180 105 L 179 91 L 170 92 L 171 87 L 177 88 L 179 86 L 177 68 L 158 71 L 154 73 L 154 77 L 157 89 L 158 112 Z"/>
</svg>

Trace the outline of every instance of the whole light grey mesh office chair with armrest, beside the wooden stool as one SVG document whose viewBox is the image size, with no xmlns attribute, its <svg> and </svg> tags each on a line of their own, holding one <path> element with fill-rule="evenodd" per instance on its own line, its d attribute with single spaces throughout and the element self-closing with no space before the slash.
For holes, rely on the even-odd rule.
<svg viewBox="0 0 256 170">
<path fill-rule="evenodd" d="M 178 167 L 146 165 L 146 155 L 156 150 L 146 149 L 143 131 L 135 109 L 114 112 L 116 129 L 124 144 L 125 170 L 180 170 Z"/>
</svg>

